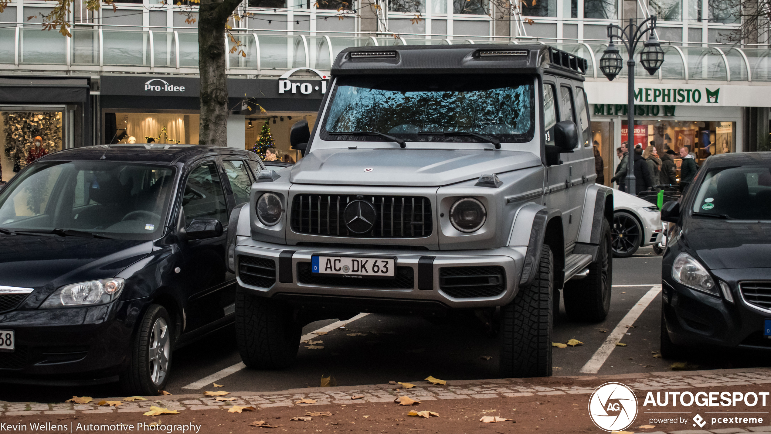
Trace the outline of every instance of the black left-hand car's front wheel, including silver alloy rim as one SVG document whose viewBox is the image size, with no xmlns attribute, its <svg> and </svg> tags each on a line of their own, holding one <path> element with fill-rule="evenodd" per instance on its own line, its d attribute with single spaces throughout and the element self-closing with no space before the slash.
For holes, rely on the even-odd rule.
<svg viewBox="0 0 771 434">
<path fill-rule="evenodd" d="M 120 382 L 126 394 L 157 395 L 166 387 L 171 368 L 173 328 L 166 308 L 151 304 L 143 315 Z"/>
</svg>

